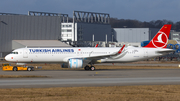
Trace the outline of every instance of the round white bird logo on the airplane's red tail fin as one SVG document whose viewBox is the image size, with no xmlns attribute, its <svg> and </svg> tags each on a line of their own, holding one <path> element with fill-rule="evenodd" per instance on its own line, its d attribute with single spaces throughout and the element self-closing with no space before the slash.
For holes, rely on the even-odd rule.
<svg viewBox="0 0 180 101">
<path fill-rule="evenodd" d="M 168 43 L 168 37 L 164 32 L 159 31 L 153 38 L 152 43 L 156 48 L 163 48 Z"/>
</svg>

